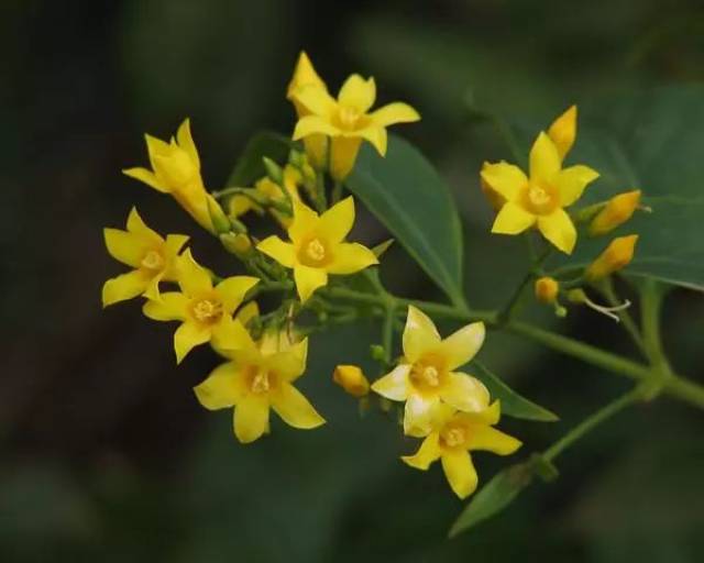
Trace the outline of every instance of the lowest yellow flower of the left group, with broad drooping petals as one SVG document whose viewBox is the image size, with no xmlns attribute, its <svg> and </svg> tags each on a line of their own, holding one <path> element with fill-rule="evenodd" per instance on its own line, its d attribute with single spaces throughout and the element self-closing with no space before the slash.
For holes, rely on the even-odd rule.
<svg viewBox="0 0 704 563">
<path fill-rule="evenodd" d="M 308 339 L 292 344 L 284 334 L 266 334 L 256 344 L 242 339 L 231 360 L 218 366 L 195 387 L 196 397 L 209 410 L 234 407 L 234 434 L 242 443 L 268 432 L 270 409 L 289 426 L 317 428 L 324 419 L 294 387 L 306 371 Z"/>
</svg>

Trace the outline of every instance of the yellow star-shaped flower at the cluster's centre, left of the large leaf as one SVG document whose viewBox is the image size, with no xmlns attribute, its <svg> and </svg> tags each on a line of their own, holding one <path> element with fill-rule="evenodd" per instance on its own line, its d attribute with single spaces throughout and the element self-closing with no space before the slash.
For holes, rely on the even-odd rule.
<svg viewBox="0 0 704 563">
<path fill-rule="evenodd" d="M 302 202 L 294 202 L 292 242 L 268 236 L 256 249 L 284 267 L 294 269 L 301 302 L 327 285 L 328 274 L 348 275 L 378 264 L 374 253 L 359 243 L 344 242 L 354 223 L 354 200 L 343 199 L 321 216 Z"/>
</svg>

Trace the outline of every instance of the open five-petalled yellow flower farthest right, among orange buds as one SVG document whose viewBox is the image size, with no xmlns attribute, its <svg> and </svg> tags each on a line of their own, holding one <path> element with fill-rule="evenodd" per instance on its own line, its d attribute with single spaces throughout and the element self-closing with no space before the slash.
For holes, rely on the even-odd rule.
<svg viewBox="0 0 704 563">
<path fill-rule="evenodd" d="M 598 173 L 583 165 L 562 168 L 558 147 L 540 133 L 530 150 L 530 178 L 513 164 L 488 164 L 482 179 L 506 199 L 493 233 L 518 234 L 537 225 L 560 251 L 571 254 L 576 230 L 564 208 L 574 203 Z"/>
</svg>

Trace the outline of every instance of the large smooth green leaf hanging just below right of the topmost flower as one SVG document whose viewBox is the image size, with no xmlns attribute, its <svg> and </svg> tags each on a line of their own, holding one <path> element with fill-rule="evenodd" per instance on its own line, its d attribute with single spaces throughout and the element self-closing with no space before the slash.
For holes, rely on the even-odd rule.
<svg viewBox="0 0 704 563">
<path fill-rule="evenodd" d="M 464 306 L 462 228 L 450 189 L 410 143 L 388 141 L 386 157 L 364 144 L 345 185 L 452 302 Z"/>
</svg>

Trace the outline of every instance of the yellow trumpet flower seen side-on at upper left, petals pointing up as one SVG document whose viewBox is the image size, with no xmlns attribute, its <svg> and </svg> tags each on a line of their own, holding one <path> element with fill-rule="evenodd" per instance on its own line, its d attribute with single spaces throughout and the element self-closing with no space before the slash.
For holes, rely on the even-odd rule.
<svg viewBox="0 0 704 563">
<path fill-rule="evenodd" d="M 206 191 L 200 176 L 200 158 L 185 120 L 176 139 L 168 143 L 144 135 L 152 169 L 128 168 L 123 174 L 143 181 L 157 191 L 170 194 L 178 203 L 210 232 L 216 232 L 211 213 L 222 214 L 219 203 Z"/>
</svg>

